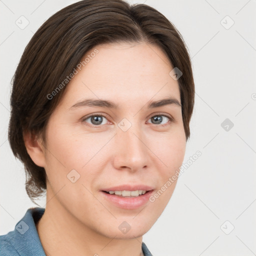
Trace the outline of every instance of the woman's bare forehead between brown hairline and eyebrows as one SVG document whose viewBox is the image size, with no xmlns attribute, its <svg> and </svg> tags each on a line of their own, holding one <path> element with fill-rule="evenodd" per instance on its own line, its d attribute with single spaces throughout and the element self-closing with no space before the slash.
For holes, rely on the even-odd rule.
<svg viewBox="0 0 256 256">
<path fill-rule="evenodd" d="M 90 54 L 94 49 L 97 54 Z M 124 103 L 148 101 L 152 97 L 175 97 L 180 102 L 177 80 L 164 52 L 148 43 L 111 43 L 86 52 L 86 64 L 71 79 L 64 101 L 73 104 L 84 97 L 104 98 Z"/>
</svg>

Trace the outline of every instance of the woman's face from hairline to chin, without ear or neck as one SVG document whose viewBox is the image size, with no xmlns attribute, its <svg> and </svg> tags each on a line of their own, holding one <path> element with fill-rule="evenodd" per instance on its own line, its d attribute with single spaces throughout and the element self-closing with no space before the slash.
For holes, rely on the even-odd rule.
<svg viewBox="0 0 256 256">
<path fill-rule="evenodd" d="M 43 166 L 47 197 L 53 198 L 46 208 L 57 207 L 98 234 L 134 238 L 165 208 L 176 183 L 167 181 L 183 161 L 181 106 L 152 104 L 168 98 L 180 103 L 178 81 L 152 44 L 96 49 L 86 53 L 93 57 L 66 85 L 46 127 Z"/>
</svg>

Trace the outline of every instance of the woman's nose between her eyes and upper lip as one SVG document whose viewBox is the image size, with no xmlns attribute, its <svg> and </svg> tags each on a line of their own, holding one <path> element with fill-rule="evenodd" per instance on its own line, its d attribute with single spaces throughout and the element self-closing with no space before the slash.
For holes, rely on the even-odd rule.
<svg viewBox="0 0 256 256">
<path fill-rule="evenodd" d="M 132 125 L 126 131 L 117 127 L 114 139 L 113 165 L 116 169 L 134 172 L 149 166 L 150 150 L 141 127 Z"/>
</svg>

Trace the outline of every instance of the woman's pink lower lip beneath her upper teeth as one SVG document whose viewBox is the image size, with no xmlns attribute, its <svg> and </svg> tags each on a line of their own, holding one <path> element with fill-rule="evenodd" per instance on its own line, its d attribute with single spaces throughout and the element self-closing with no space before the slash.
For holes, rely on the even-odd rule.
<svg viewBox="0 0 256 256">
<path fill-rule="evenodd" d="M 120 208 L 136 209 L 144 205 L 149 200 L 149 197 L 152 194 L 153 190 L 134 197 L 121 197 L 115 194 L 108 194 L 103 191 L 100 192 L 103 194 L 104 198 Z"/>
</svg>

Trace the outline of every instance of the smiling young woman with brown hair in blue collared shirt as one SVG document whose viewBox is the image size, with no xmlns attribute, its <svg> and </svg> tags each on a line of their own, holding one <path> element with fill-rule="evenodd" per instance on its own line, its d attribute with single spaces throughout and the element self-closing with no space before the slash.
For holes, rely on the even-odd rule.
<svg viewBox="0 0 256 256">
<path fill-rule="evenodd" d="M 157 10 L 83 0 L 52 15 L 16 69 L 9 142 L 32 201 L 0 255 L 151 255 L 142 235 L 176 184 L 194 104 L 182 36 Z"/>
</svg>

